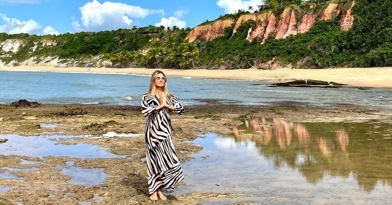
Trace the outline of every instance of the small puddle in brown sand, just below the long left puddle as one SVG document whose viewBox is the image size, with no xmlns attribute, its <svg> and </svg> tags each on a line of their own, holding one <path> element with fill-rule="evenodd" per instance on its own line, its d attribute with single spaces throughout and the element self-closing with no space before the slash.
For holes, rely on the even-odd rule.
<svg viewBox="0 0 392 205">
<path fill-rule="evenodd" d="M 108 174 L 104 173 L 103 168 L 84 169 L 78 166 L 55 166 L 61 172 L 71 176 L 67 181 L 69 184 L 80 184 L 85 186 L 103 184 Z"/>
</svg>

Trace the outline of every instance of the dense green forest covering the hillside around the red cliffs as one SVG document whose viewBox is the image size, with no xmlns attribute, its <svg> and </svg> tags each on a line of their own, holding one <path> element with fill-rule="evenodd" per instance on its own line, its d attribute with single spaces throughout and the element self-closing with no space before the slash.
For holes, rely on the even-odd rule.
<svg viewBox="0 0 392 205">
<path fill-rule="evenodd" d="M 326 2 L 318 0 L 314 9 L 320 9 Z M 338 0 L 343 5 L 349 2 Z M 311 1 L 269 0 L 260 5 L 259 11 L 281 12 L 285 6 L 309 9 Z M 79 66 L 87 60 L 104 58 L 117 67 L 154 68 L 207 68 L 238 69 L 250 68 L 257 63 L 271 59 L 292 64 L 301 60 L 301 68 L 328 67 L 369 67 L 392 66 L 392 1 L 355 0 L 352 8 L 354 24 L 349 31 L 338 26 L 339 17 L 317 21 L 303 34 L 286 39 L 267 39 L 263 44 L 257 40 L 247 41 L 246 36 L 255 21 L 243 23 L 233 34 L 234 23 L 225 29 L 224 36 L 212 41 L 196 39 L 188 42 L 185 38 L 191 28 L 134 27 L 116 31 L 65 33 L 58 36 L 36 36 L 28 34 L 8 35 L 0 33 L 0 41 L 19 39 L 25 42 L 16 53 L 0 54 L 0 60 L 23 62 L 34 58 L 36 62 L 45 57 L 59 57 L 64 61 L 79 59 Z M 238 19 L 249 12 L 238 11 L 219 19 Z M 213 21 L 205 21 L 208 24 Z M 235 22 L 235 21 L 234 21 Z M 41 40 L 54 40 L 55 46 L 43 46 Z M 38 44 L 37 44 L 38 42 Z M 36 49 L 32 52 L 32 47 Z"/>
</svg>

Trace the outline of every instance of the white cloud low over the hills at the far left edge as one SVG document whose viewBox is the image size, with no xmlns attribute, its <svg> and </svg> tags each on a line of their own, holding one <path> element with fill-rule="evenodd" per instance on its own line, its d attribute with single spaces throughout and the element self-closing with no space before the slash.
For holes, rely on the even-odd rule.
<svg viewBox="0 0 392 205">
<path fill-rule="evenodd" d="M 0 24 L 0 33 L 5 32 L 8 34 L 39 34 L 42 26 L 36 21 L 30 19 L 28 21 L 20 21 L 15 18 L 9 18 L 5 14 L 0 13 L 0 19 L 4 21 L 5 24 Z"/>
</svg>

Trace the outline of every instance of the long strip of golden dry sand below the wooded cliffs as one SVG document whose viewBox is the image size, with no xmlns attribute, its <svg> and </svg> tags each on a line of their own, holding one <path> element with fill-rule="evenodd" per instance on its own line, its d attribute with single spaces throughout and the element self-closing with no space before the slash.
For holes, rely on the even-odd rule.
<svg viewBox="0 0 392 205">
<path fill-rule="evenodd" d="M 82 68 L 82 67 L 0 67 L 8 71 L 47 71 L 83 73 L 119 73 L 150 75 L 151 68 Z M 201 70 L 162 69 L 172 77 L 208 79 L 254 80 L 264 82 L 289 82 L 294 80 L 319 80 L 338 82 L 355 87 L 392 88 L 392 67 L 332 68 L 332 69 L 277 69 L 277 70 Z"/>
</svg>

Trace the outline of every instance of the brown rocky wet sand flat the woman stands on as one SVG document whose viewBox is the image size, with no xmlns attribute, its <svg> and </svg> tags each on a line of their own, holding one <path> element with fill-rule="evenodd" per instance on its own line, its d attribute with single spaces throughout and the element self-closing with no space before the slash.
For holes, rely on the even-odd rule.
<svg viewBox="0 0 392 205">
<path fill-rule="evenodd" d="M 22 136 L 46 135 L 102 135 L 116 133 L 144 133 L 145 118 L 138 106 L 109 106 L 88 104 L 43 104 L 36 108 L 14 108 L 0 105 L 0 134 Z M 269 117 L 295 122 L 366 122 L 372 119 L 391 119 L 392 111 L 375 110 L 370 107 L 342 105 L 341 108 L 298 106 L 293 102 L 281 102 L 271 106 L 236 106 L 208 104 L 188 106 L 183 116 L 172 115 L 173 142 L 181 162 L 192 160 L 192 154 L 202 147 L 187 143 L 198 135 L 208 132 L 232 134 L 233 127 L 245 118 Z M 58 124 L 58 126 L 37 126 L 37 124 Z M 6 145 L 8 142 L 5 142 Z M 0 167 L 32 168 L 39 170 L 13 171 L 0 168 L 0 174 L 12 174 L 20 179 L 1 179 L 0 187 L 13 187 L 0 192 L 0 198 L 11 202 L 35 204 L 77 204 L 103 199 L 102 204 L 151 204 L 147 190 L 147 167 L 145 140 L 140 137 L 108 138 L 60 138 L 56 144 L 90 144 L 107 148 L 107 152 L 123 157 L 77 158 L 49 156 L 45 158 L 20 155 L 1 155 Z M 39 164 L 20 164 L 21 160 L 36 161 Z M 81 169 L 104 169 L 108 176 L 104 184 L 84 186 L 67 183 L 71 177 L 61 172 L 72 161 Z M 158 204 L 197 204 L 197 200 L 233 198 L 236 194 L 192 193 L 168 197 L 167 202 Z"/>
</svg>

